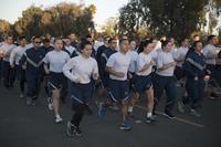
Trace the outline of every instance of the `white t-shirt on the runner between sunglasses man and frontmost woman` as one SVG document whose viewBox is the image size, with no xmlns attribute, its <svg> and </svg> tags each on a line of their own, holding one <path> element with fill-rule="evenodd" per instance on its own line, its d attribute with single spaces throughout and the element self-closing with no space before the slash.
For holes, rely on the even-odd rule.
<svg viewBox="0 0 221 147">
<path fill-rule="evenodd" d="M 46 53 L 44 63 L 50 65 L 50 71 L 55 73 L 62 73 L 64 64 L 70 60 L 70 55 L 64 51 L 53 50 Z"/>
</svg>

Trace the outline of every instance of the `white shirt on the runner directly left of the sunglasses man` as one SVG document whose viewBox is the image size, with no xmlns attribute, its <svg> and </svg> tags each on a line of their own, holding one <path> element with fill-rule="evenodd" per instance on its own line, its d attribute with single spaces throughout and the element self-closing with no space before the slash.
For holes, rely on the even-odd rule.
<svg viewBox="0 0 221 147">
<path fill-rule="evenodd" d="M 17 46 L 15 49 L 12 50 L 11 55 L 10 55 L 10 65 L 19 65 L 19 61 L 21 60 L 21 56 L 24 54 L 27 51 L 27 46 Z"/>
</svg>

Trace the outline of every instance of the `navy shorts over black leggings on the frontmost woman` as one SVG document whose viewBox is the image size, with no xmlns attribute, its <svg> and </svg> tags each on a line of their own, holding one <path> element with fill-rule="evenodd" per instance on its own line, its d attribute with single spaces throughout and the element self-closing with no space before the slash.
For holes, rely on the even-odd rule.
<svg viewBox="0 0 221 147">
<path fill-rule="evenodd" d="M 80 84 L 71 83 L 72 104 L 88 104 L 93 95 L 93 83 Z"/>
</svg>

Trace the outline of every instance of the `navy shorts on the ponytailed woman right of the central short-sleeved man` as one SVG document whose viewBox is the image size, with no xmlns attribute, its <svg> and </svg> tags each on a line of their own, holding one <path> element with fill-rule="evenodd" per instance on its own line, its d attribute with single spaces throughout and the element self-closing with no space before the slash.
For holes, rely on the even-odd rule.
<svg viewBox="0 0 221 147">
<path fill-rule="evenodd" d="M 135 88 L 139 94 L 151 87 L 152 87 L 151 74 L 146 76 L 143 75 L 135 76 Z"/>
</svg>

